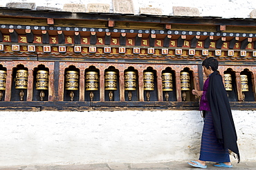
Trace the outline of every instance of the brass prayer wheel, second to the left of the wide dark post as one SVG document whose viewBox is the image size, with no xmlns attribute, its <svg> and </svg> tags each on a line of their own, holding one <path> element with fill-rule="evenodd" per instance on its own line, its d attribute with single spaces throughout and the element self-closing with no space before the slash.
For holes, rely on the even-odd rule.
<svg viewBox="0 0 256 170">
<path fill-rule="evenodd" d="M 17 70 L 15 89 L 28 89 L 28 71 Z"/>
</svg>

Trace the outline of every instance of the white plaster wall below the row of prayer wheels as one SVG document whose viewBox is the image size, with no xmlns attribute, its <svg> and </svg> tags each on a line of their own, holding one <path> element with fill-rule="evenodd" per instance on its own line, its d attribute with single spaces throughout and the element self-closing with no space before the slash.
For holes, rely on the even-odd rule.
<svg viewBox="0 0 256 170">
<path fill-rule="evenodd" d="M 233 111 L 241 160 L 256 160 L 256 111 Z M 199 111 L 1 111 L 0 166 L 161 162 L 199 156 Z"/>
</svg>

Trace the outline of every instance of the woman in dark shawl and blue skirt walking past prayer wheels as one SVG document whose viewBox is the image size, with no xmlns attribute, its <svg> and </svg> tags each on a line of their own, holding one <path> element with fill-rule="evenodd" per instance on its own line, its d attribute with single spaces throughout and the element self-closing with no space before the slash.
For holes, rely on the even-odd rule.
<svg viewBox="0 0 256 170">
<path fill-rule="evenodd" d="M 237 134 L 232 119 L 226 89 L 222 77 L 217 72 L 218 61 L 213 57 L 205 59 L 202 63 L 203 72 L 208 76 L 203 85 L 203 91 L 192 90 L 192 94 L 201 98 L 199 110 L 205 112 L 203 116 L 203 134 L 199 160 L 190 161 L 193 167 L 207 168 L 206 161 L 217 162 L 215 167 L 231 168 L 229 153 L 237 155 Z"/>
</svg>

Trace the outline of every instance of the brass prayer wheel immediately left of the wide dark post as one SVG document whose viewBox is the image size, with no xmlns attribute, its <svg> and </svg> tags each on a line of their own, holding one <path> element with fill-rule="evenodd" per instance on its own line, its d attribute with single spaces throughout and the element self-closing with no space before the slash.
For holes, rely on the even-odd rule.
<svg viewBox="0 0 256 170">
<path fill-rule="evenodd" d="M 48 89 L 48 71 L 38 70 L 37 71 L 37 83 L 35 89 Z"/>
</svg>

